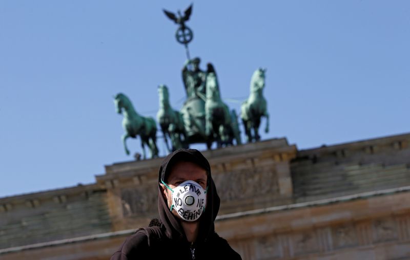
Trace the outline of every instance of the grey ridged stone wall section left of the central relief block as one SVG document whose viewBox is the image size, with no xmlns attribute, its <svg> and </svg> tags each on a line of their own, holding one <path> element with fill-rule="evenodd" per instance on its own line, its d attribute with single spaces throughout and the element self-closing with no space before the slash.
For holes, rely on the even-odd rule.
<svg viewBox="0 0 410 260">
<path fill-rule="evenodd" d="M 0 199 L 0 249 L 108 231 L 106 191 L 96 185 Z"/>
</svg>

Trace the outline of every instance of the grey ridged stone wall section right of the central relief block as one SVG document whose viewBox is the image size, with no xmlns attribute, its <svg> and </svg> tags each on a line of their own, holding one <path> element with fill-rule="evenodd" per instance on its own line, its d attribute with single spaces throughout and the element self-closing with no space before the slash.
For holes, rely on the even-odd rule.
<svg viewBox="0 0 410 260">
<path fill-rule="evenodd" d="M 410 185 L 410 135 L 298 151 L 296 202 Z"/>
</svg>

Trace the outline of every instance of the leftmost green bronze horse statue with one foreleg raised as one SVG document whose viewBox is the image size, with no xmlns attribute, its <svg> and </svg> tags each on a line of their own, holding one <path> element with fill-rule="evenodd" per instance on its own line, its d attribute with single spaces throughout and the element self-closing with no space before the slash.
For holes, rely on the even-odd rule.
<svg viewBox="0 0 410 260">
<path fill-rule="evenodd" d="M 155 120 L 152 117 L 138 115 L 130 99 L 122 93 L 118 93 L 114 97 L 114 103 L 117 113 L 124 115 L 122 127 L 124 128 L 125 134 L 122 135 L 121 139 L 124 144 L 125 153 L 127 155 L 130 154 L 126 143 L 127 138 L 136 138 L 139 135 L 141 138 L 142 157 L 146 159 L 145 145 L 150 149 L 151 158 L 158 157 L 158 148 L 156 145 L 157 127 Z"/>
</svg>

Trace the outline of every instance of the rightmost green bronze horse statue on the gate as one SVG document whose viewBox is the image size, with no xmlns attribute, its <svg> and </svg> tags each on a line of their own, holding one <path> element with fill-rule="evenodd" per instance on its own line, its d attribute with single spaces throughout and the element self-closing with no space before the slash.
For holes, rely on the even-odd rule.
<svg viewBox="0 0 410 260">
<path fill-rule="evenodd" d="M 269 132 L 269 114 L 267 102 L 263 97 L 266 69 L 257 69 L 251 79 L 251 94 L 241 105 L 241 115 L 248 142 L 259 141 L 259 125 L 261 117 L 266 117 L 265 133 Z M 252 133 L 253 130 L 253 133 Z"/>
</svg>

